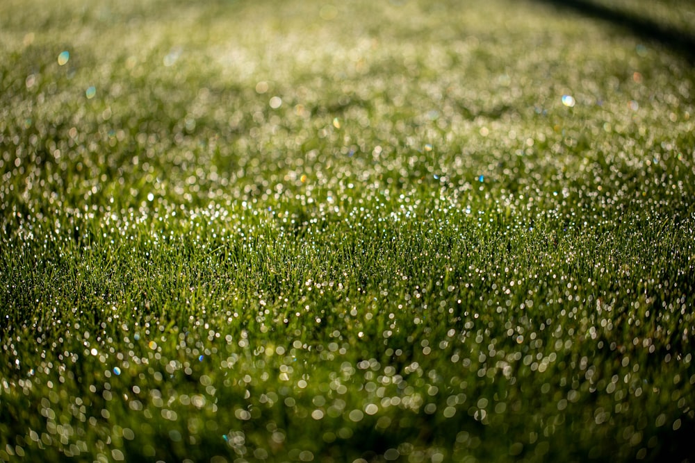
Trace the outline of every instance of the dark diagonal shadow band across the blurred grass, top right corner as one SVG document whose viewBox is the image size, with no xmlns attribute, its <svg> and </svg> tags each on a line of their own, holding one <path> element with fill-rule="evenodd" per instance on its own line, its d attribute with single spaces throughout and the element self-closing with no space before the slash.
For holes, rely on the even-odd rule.
<svg viewBox="0 0 695 463">
<path fill-rule="evenodd" d="M 573 10 L 586 17 L 609 22 L 636 37 L 658 42 L 695 65 L 695 35 L 667 24 L 661 24 L 648 17 L 633 12 L 603 5 L 594 0 L 536 0 L 548 3 L 558 9 Z"/>
</svg>

